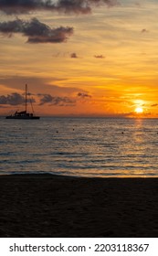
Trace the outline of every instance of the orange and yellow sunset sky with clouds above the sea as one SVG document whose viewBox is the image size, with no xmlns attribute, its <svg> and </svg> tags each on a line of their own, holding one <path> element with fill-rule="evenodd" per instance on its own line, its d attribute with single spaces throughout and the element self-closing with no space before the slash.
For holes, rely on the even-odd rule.
<svg viewBox="0 0 158 256">
<path fill-rule="evenodd" d="M 0 114 L 158 117 L 158 1 L 0 0 Z"/>
</svg>

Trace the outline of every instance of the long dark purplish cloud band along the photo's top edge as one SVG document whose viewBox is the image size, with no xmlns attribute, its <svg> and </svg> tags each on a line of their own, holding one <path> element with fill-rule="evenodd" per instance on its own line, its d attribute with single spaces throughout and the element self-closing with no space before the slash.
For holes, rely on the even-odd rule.
<svg viewBox="0 0 158 256">
<path fill-rule="evenodd" d="M 117 5 L 117 0 L 0 0 L 0 10 L 7 15 L 49 10 L 64 13 L 89 14 L 96 5 Z"/>
</svg>

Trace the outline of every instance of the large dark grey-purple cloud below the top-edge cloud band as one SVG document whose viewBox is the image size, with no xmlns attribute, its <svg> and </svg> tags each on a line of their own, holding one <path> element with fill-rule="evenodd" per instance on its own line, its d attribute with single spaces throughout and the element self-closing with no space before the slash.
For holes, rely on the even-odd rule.
<svg viewBox="0 0 158 256">
<path fill-rule="evenodd" d="M 62 43 L 73 34 L 73 27 L 50 28 L 37 18 L 30 21 L 16 19 L 0 23 L 0 33 L 7 37 L 19 33 L 27 38 L 27 43 Z"/>
</svg>

